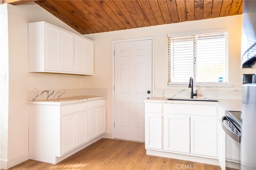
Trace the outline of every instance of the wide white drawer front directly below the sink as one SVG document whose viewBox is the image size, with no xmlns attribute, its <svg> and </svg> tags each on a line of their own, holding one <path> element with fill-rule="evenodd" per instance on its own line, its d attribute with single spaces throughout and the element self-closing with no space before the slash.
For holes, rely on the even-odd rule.
<svg viewBox="0 0 256 170">
<path fill-rule="evenodd" d="M 218 107 L 211 105 L 165 104 L 164 113 L 180 115 L 217 116 Z"/>
</svg>

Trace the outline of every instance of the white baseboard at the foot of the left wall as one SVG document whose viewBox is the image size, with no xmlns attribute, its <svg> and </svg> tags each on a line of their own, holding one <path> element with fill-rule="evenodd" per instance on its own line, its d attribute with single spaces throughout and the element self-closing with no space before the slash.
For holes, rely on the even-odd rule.
<svg viewBox="0 0 256 170">
<path fill-rule="evenodd" d="M 24 154 L 20 154 L 18 156 L 15 156 L 14 158 L 11 158 L 9 160 L 1 160 L 1 167 L 2 169 L 8 169 L 12 166 L 18 165 L 26 160 L 29 159 L 29 153 L 25 152 Z"/>
</svg>

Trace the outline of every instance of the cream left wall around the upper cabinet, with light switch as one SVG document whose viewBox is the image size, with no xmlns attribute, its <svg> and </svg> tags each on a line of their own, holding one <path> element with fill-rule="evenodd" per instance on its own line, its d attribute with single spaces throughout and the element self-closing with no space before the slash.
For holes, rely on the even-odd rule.
<svg viewBox="0 0 256 170">
<path fill-rule="evenodd" d="M 38 88 L 38 90 L 82 88 L 81 75 L 28 72 L 29 22 L 46 21 L 68 31 L 77 32 L 34 2 L 16 6 L 8 4 L 8 18 L 7 11 L 6 14 L 2 14 L 2 8 L 6 5 L 1 5 L 0 13 L 0 75 L 7 73 L 7 80 L 9 80 L 9 82 L 0 84 L 1 121 L 4 121 L 1 122 L 1 168 L 9 168 L 28 159 L 27 91 L 31 91 L 33 88 Z M 6 30 L 2 30 L 5 27 Z M 2 55 L 3 53 L 4 55 Z M 4 68 L 2 68 L 2 64 Z M 2 96 L 4 96 L 4 100 L 2 100 Z"/>
</svg>

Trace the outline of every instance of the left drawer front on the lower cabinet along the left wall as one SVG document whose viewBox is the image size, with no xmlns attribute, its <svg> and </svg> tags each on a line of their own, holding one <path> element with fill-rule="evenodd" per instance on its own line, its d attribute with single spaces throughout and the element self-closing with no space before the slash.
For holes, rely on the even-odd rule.
<svg viewBox="0 0 256 170">
<path fill-rule="evenodd" d="M 87 102 L 61 106 L 61 115 L 68 115 L 87 109 Z"/>
</svg>

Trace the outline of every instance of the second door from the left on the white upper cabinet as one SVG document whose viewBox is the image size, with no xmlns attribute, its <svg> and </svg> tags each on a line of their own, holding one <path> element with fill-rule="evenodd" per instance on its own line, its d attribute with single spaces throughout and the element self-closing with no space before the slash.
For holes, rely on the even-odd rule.
<svg viewBox="0 0 256 170">
<path fill-rule="evenodd" d="M 74 34 L 61 30 L 61 68 L 63 72 L 74 72 Z"/>
</svg>

